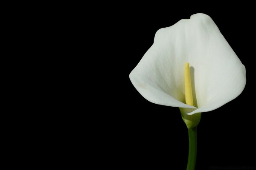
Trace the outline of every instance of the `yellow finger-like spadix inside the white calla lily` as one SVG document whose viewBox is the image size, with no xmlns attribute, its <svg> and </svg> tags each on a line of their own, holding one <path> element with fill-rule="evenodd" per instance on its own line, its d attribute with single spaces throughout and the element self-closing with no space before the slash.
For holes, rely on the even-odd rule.
<svg viewBox="0 0 256 170">
<path fill-rule="evenodd" d="M 194 106 L 189 63 L 185 63 L 185 101 L 187 105 Z"/>
</svg>

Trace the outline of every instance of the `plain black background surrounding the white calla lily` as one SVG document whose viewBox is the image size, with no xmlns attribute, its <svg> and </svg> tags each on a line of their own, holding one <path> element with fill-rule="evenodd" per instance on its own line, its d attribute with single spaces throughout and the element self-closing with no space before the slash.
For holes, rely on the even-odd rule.
<svg viewBox="0 0 256 170">
<path fill-rule="evenodd" d="M 205 13 L 212 17 L 245 65 L 247 84 L 233 101 L 202 113 L 198 125 L 196 169 L 256 166 L 254 6 L 242 6 L 240 2 L 238 7 L 233 7 L 234 2 L 226 7 L 215 2 L 201 3 L 198 8 L 185 2 L 181 2 L 182 5 L 160 1 L 142 5 L 96 3 L 46 4 L 46 8 L 43 4 L 38 7 L 27 5 L 32 11 L 16 4 L 21 12 L 13 15 L 19 22 L 6 18 L 14 23 L 14 26 L 6 25 L 12 28 L 7 36 L 14 35 L 13 39 L 8 38 L 9 41 L 20 44 L 19 48 L 11 46 L 10 51 L 17 51 L 17 57 L 26 63 L 23 65 L 14 59 L 21 65 L 15 74 L 20 74 L 23 80 L 15 82 L 12 90 L 24 93 L 18 95 L 18 99 L 25 104 L 21 102 L 20 106 L 14 104 L 10 108 L 18 108 L 17 113 L 25 121 L 10 114 L 17 119 L 13 131 L 20 132 L 20 136 L 9 133 L 11 137 L 8 139 L 14 143 L 7 147 L 10 149 L 8 153 L 17 156 L 24 164 L 27 160 L 29 164 L 42 161 L 39 166 L 54 162 L 57 166 L 71 164 L 73 169 L 81 163 L 85 167 L 93 164 L 95 168 L 103 166 L 119 170 L 185 170 L 188 134 L 179 109 L 148 102 L 131 84 L 129 74 L 153 44 L 158 29 L 172 26 L 192 14 Z M 40 7 L 42 11 L 38 11 Z M 35 15 L 36 11 L 40 16 Z M 11 13 L 10 10 L 5 14 Z M 27 54 L 31 54 L 32 59 L 26 58 Z M 24 68 L 28 73 L 22 72 Z M 43 73 L 38 74 L 36 68 Z M 31 72 L 32 78 L 28 76 L 27 79 L 32 83 L 27 81 L 27 85 L 23 77 Z M 44 76 L 40 77 L 41 74 Z M 17 81 L 15 77 L 9 77 Z M 38 77 L 38 82 L 34 77 Z M 26 94 L 30 90 L 32 97 Z M 28 102 L 24 96 L 33 101 Z M 32 116 L 27 114 L 28 108 Z M 38 110 L 42 114 L 38 114 Z M 17 153 L 16 148 L 24 151 Z M 5 158 L 9 157 L 5 155 Z M 17 163 L 16 160 L 12 162 Z"/>
</svg>

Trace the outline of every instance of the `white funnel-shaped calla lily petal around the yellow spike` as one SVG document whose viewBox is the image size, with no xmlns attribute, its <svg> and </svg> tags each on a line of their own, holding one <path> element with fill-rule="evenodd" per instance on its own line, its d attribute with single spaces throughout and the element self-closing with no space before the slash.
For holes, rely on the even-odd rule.
<svg viewBox="0 0 256 170">
<path fill-rule="evenodd" d="M 185 104 L 184 65 L 190 64 L 193 99 Z M 244 89 L 245 67 L 206 14 L 157 31 L 154 44 L 130 74 L 134 87 L 150 102 L 212 111 Z M 198 108 L 198 109 L 197 109 Z"/>
</svg>

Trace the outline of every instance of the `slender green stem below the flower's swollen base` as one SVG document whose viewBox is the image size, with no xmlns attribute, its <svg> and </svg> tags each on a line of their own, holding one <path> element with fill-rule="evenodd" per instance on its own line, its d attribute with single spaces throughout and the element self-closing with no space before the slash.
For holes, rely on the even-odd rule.
<svg viewBox="0 0 256 170">
<path fill-rule="evenodd" d="M 196 136 L 196 127 L 193 127 L 189 130 L 189 159 L 186 170 L 195 170 L 196 162 L 196 150 L 197 150 L 197 136 Z"/>
</svg>

